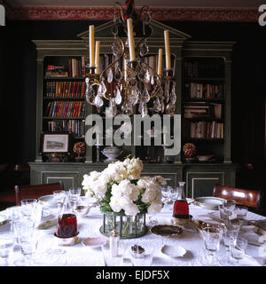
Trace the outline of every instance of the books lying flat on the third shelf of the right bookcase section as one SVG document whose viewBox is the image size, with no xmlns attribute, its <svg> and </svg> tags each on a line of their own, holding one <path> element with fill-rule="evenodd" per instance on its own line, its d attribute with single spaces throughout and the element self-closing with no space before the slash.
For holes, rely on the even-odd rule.
<svg viewBox="0 0 266 284">
<path fill-rule="evenodd" d="M 222 119 L 223 105 L 207 102 L 184 103 L 184 118 Z"/>
</svg>

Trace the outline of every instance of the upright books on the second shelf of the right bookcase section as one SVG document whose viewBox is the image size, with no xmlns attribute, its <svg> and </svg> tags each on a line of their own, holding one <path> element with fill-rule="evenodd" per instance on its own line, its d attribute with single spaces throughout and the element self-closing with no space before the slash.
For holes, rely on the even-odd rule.
<svg viewBox="0 0 266 284">
<path fill-rule="evenodd" d="M 186 84 L 186 92 L 191 99 L 222 99 L 223 85 L 210 83 Z"/>
</svg>

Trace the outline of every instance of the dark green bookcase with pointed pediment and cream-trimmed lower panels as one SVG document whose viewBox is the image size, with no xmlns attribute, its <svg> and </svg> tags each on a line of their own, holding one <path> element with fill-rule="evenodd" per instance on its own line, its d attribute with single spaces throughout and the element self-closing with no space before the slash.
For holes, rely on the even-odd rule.
<svg viewBox="0 0 266 284">
<path fill-rule="evenodd" d="M 95 28 L 95 38 L 101 42 L 101 53 L 112 53 L 111 45 L 113 36 L 111 28 L 113 21 Z M 153 28 L 152 36 L 147 38 L 150 54 L 157 54 L 159 48 L 164 49 L 163 30 L 168 29 L 170 35 L 171 52 L 175 55 L 175 81 L 176 81 L 176 114 L 182 115 L 182 126 L 184 119 L 184 103 L 198 101 L 187 97 L 185 86 L 187 83 L 195 81 L 197 83 L 221 83 L 223 84 L 223 98 L 220 99 L 200 99 L 200 101 L 216 101 L 223 105 L 223 138 L 185 138 L 184 131 L 178 139 L 181 146 L 190 141 L 197 148 L 210 150 L 215 154 L 215 162 L 184 162 L 182 153 L 176 155 L 171 163 L 145 163 L 144 174 L 162 175 L 167 178 L 169 185 L 177 185 L 178 181 L 184 180 L 188 197 L 200 195 L 211 195 L 213 186 L 216 183 L 225 185 L 235 185 L 236 165 L 231 163 L 231 52 L 234 43 L 231 42 L 200 42 L 192 41 L 191 36 L 183 32 L 170 28 L 157 21 L 151 21 Z M 137 41 L 137 39 L 136 39 Z M 89 60 L 89 33 L 88 30 L 79 34 L 76 40 L 34 40 L 37 50 L 37 90 L 36 90 L 36 138 L 35 138 L 35 162 L 30 162 L 31 184 L 51 183 L 58 180 L 64 182 L 65 187 L 80 186 L 82 176 L 91 170 L 103 170 L 106 163 L 95 162 L 95 146 L 86 146 L 85 162 L 43 162 L 42 155 L 39 153 L 40 136 L 46 130 L 46 121 L 49 117 L 45 116 L 45 106 L 52 99 L 46 98 L 45 83 L 49 80 L 80 81 L 85 78 L 47 78 L 43 70 L 48 59 L 52 62 L 62 62 L 66 58 L 85 58 Z M 187 78 L 184 73 L 185 62 L 219 62 L 222 68 L 222 75 L 215 77 Z M 67 100 L 60 99 L 60 100 Z M 82 100 L 82 99 L 74 99 Z M 94 112 L 94 106 L 85 103 L 86 115 Z M 71 118 L 69 118 L 71 119 Z M 85 125 L 85 130 L 89 126 Z M 76 138 L 83 140 L 83 138 Z M 104 146 L 103 146 L 104 147 Z M 103 148 L 102 147 L 102 148 Z M 101 148 L 101 149 L 102 149 Z M 143 149 L 141 146 L 131 146 L 127 148 L 128 153 L 140 155 L 143 159 Z M 102 157 L 103 160 L 103 157 Z"/>
</svg>

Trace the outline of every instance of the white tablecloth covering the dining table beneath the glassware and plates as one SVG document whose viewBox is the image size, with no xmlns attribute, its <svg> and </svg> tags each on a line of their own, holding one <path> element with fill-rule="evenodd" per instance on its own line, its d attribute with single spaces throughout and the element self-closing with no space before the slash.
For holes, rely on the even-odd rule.
<svg viewBox="0 0 266 284">
<path fill-rule="evenodd" d="M 162 211 L 155 215 L 160 225 L 171 224 L 171 209 L 162 209 Z M 1 214 L 4 214 L 2 211 Z M 217 210 L 203 209 L 199 206 L 190 205 L 190 214 L 193 219 L 198 220 L 212 220 L 211 216 L 219 217 Z M 49 216 L 43 217 L 42 222 L 46 220 L 55 219 L 56 215 L 52 213 Z M 252 212 L 247 213 L 248 220 L 259 220 L 265 217 L 259 216 Z M 146 220 L 148 222 L 149 216 Z M 38 257 L 38 264 L 45 266 L 101 266 L 104 265 L 104 259 L 100 248 L 84 247 L 82 245 L 82 239 L 87 237 L 102 236 L 99 233 L 99 227 L 102 225 L 102 216 L 98 208 L 93 208 L 87 217 L 78 217 L 78 231 L 79 241 L 77 244 L 71 247 L 57 247 L 57 243 L 54 237 L 55 226 L 52 226 L 46 230 L 38 230 L 40 235 L 40 241 L 38 243 L 38 249 L 36 256 Z M 5 234 L 10 232 L 10 224 L 2 225 L 0 227 L 0 233 Z M 254 233 L 254 226 L 245 226 L 242 230 L 242 234 L 249 241 L 258 242 L 259 235 Z M 265 239 L 264 239 L 265 240 Z M 200 257 L 204 254 L 203 241 L 200 238 L 199 233 L 194 230 L 184 229 L 182 234 L 179 234 L 175 238 L 161 237 L 153 233 L 147 233 L 142 238 L 121 240 L 126 242 L 127 245 L 144 243 L 147 246 L 154 246 L 155 252 L 153 256 L 153 266 L 200 266 Z M 186 254 L 183 257 L 170 258 L 164 255 L 160 248 L 163 245 L 178 245 L 186 249 Z M 265 264 L 266 258 L 266 244 L 262 246 L 255 246 L 248 244 L 246 248 L 246 256 L 242 261 L 243 265 L 262 265 Z M 53 255 L 47 253 L 47 248 L 61 248 L 65 252 L 63 254 Z M 219 254 L 224 254 L 225 248 L 221 245 Z M 219 256 L 219 255 L 218 255 Z M 14 262 L 21 257 L 19 246 L 15 246 L 12 256 L 10 256 L 10 265 L 14 265 Z M 129 254 L 124 256 L 123 265 L 130 265 Z"/>
</svg>

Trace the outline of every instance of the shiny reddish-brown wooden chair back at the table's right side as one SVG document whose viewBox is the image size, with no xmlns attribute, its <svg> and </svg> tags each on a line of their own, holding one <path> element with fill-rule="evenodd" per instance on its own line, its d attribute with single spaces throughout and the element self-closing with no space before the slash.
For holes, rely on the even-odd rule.
<svg viewBox="0 0 266 284">
<path fill-rule="evenodd" d="M 262 205 L 262 191 L 237 188 L 227 185 L 215 185 L 213 196 L 234 200 L 240 205 L 259 211 Z"/>
</svg>

